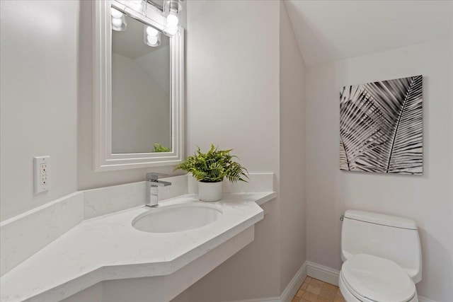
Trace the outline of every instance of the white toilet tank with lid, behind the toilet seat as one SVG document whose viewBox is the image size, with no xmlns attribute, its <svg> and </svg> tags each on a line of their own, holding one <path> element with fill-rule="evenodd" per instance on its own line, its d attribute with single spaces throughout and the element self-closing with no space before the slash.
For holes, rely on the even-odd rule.
<svg viewBox="0 0 453 302">
<path fill-rule="evenodd" d="M 414 221 L 367 211 L 345 212 L 341 259 L 368 254 L 396 262 L 415 283 L 422 279 L 422 255 Z"/>
</svg>

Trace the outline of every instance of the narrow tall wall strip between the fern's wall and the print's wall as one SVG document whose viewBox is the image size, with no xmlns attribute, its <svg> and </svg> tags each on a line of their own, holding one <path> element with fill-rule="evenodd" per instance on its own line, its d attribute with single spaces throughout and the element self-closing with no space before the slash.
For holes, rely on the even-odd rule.
<svg viewBox="0 0 453 302">
<path fill-rule="evenodd" d="M 306 260 L 305 65 L 280 3 L 280 292 Z"/>
</svg>

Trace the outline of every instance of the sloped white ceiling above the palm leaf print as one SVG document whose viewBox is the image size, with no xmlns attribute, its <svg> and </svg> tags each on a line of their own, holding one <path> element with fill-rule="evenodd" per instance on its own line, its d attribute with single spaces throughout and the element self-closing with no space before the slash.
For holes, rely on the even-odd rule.
<svg viewBox="0 0 453 302">
<path fill-rule="evenodd" d="M 285 0 L 307 66 L 453 36 L 453 1 Z"/>
</svg>

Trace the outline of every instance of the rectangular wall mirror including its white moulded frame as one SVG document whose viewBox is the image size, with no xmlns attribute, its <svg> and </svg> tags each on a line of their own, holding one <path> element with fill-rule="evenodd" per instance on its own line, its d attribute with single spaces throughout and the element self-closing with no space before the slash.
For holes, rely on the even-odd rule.
<svg viewBox="0 0 453 302">
<path fill-rule="evenodd" d="M 168 37 L 156 6 L 142 16 L 123 3 L 93 1 L 95 170 L 175 165 L 183 156 L 184 31 Z"/>
</svg>

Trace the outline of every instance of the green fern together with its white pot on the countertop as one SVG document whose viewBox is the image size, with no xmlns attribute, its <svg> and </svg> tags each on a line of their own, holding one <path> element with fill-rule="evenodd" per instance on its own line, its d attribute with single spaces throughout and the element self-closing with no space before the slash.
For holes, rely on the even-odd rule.
<svg viewBox="0 0 453 302">
<path fill-rule="evenodd" d="M 200 147 L 195 155 L 185 158 L 183 163 L 176 166 L 175 170 L 185 170 L 192 173 L 198 181 L 198 197 L 205 202 L 216 202 L 222 199 L 222 181 L 224 178 L 230 182 L 247 182 L 248 171 L 240 163 L 233 161 L 229 150 L 217 150 L 211 144 L 210 151 L 202 153 Z"/>
</svg>

